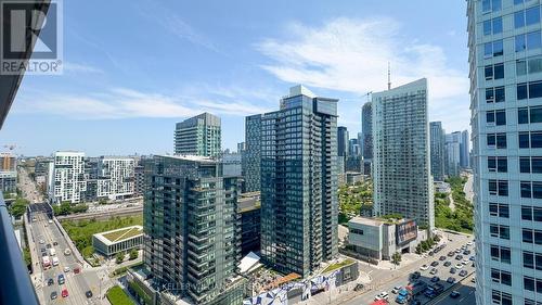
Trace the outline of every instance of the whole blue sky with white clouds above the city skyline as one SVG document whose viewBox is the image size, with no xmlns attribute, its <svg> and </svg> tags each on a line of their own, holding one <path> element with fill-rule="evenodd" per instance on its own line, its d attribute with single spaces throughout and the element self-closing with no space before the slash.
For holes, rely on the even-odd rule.
<svg viewBox="0 0 542 305">
<path fill-rule="evenodd" d="M 244 117 L 296 84 L 338 98 L 353 137 L 388 61 L 395 86 L 428 77 L 429 119 L 466 129 L 465 28 L 465 1 L 64 1 L 64 74 L 25 76 L 0 138 L 26 155 L 166 153 L 175 123 L 208 111 L 235 149 Z"/>
</svg>

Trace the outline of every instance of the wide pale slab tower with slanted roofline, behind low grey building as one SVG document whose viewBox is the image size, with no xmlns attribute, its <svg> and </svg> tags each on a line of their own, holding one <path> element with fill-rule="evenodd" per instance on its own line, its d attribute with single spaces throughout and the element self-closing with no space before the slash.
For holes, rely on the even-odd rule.
<svg viewBox="0 0 542 305">
<path fill-rule="evenodd" d="M 427 80 L 373 93 L 374 211 L 435 227 Z"/>
</svg>

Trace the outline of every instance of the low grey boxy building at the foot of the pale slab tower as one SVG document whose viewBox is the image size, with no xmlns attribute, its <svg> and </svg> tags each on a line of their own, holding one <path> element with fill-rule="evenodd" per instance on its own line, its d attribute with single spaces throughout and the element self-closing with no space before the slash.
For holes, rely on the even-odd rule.
<svg viewBox="0 0 542 305">
<path fill-rule="evenodd" d="M 361 257 L 390 259 L 396 252 L 413 253 L 416 245 L 427 239 L 418 231 L 416 221 L 353 217 L 348 221 L 348 244 Z"/>
</svg>

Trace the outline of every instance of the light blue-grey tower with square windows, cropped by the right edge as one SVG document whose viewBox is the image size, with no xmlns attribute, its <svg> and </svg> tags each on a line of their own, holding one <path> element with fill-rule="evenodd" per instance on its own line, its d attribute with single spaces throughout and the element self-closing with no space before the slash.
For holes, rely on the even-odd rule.
<svg viewBox="0 0 542 305">
<path fill-rule="evenodd" d="M 467 1 L 476 304 L 542 302 L 539 1 Z"/>
</svg>

